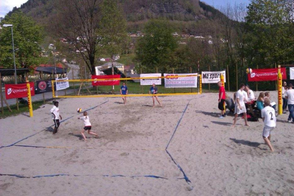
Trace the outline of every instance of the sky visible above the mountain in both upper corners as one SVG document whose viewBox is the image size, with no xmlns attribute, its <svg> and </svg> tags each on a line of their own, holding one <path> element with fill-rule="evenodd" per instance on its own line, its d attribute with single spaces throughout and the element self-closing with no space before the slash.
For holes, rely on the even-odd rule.
<svg viewBox="0 0 294 196">
<path fill-rule="evenodd" d="M 20 7 L 21 4 L 27 2 L 28 0 L 0 0 L 0 17 L 4 17 L 13 7 Z M 226 7 L 226 5 L 244 3 L 249 4 L 250 0 L 201 0 L 208 5 L 214 6 L 215 8 Z"/>
</svg>

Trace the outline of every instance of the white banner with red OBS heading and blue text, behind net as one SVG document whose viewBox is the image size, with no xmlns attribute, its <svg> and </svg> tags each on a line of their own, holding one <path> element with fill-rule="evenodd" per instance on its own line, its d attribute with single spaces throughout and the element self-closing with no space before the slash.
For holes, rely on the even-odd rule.
<svg viewBox="0 0 294 196">
<path fill-rule="evenodd" d="M 182 75 L 197 75 L 198 73 L 181 73 L 181 74 L 163 74 L 166 76 L 182 76 Z M 187 88 L 187 87 L 197 87 L 197 77 L 173 77 L 164 78 L 165 88 Z"/>
</svg>

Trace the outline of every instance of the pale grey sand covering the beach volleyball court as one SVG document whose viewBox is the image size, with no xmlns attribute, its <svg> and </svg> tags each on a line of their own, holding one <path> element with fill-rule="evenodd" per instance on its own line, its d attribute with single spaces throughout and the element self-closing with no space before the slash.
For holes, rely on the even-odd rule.
<svg viewBox="0 0 294 196">
<path fill-rule="evenodd" d="M 277 103 L 277 92 L 271 96 Z M 240 118 L 233 128 L 232 115 L 218 118 L 217 99 L 217 93 L 160 97 L 162 108 L 152 108 L 150 97 L 127 98 L 126 105 L 121 98 L 58 99 L 66 120 L 56 135 L 52 104 L 33 118 L 0 119 L 0 146 L 8 146 L 0 149 L 0 174 L 28 177 L 1 175 L 0 195 L 294 195 L 288 114 L 277 117 L 270 152 L 262 120 L 247 127 Z M 82 140 L 79 107 L 90 109 L 98 139 L 86 133 Z M 36 177 L 58 174 L 64 175 Z"/>
</svg>

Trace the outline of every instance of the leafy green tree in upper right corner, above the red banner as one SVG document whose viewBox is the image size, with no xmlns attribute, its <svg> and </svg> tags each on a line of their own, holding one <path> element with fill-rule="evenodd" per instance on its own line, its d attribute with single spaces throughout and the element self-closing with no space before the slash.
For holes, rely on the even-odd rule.
<svg viewBox="0 0 294 196">
<path fill-rule="evenodd" d="M 293 62 L 293 4 L 288 0 L 252 0 L 247 14 L 251 32 L 247 46 L 255 51 L 251 63 L 273 67 Z"/>
</svg>

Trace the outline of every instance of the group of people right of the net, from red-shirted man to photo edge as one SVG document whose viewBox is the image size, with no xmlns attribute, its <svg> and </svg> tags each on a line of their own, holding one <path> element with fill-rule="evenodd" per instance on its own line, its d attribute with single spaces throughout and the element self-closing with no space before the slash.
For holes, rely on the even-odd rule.
<svg viewBox="0 0 294 196">
<path fill-rule="evenodd" d="M 243 114 L 245 125 L 249 126 L 247 119 L 247 110 L 253 112 L 253 106 L 256 103 L 255 109 L 259 111 L 259 114 L 264 122 L 263 129 L 263 139 L 265 143 L 270 147 L 271 151 L 273 147 L 270 144 L 270 134 L 271 131 L 276 126 L 276 104 L 270 100 L 270 92 L 261 92 L 259 97 L 255 100 L 253 91 L 249 88 L 248 85 L 240 84 L 239 90 L 234 94 L 234 99 L 226 96 L 225 88 L 222 86 L 221 81 L 218 82 L 219 86 L 219 99 L 218 99 L 218 108 L 221 110 L 221 116 L 219 118 L 223 119 L 226 117 L 226 108 L 234 113 L 234 122 L 235 126 L 237 122 L 237 117 L 239 114 Z M 286 107 L 288 106 L 289 117 L 287 122 L 294 123 L 294 89 L 292 89 L 292 84 L 289 84 L 287 87 L 286 82 L 283 82 L 282 88 L 282 98 L 283 98 L 283 113 L 286 113 Z"/>
</svg>

